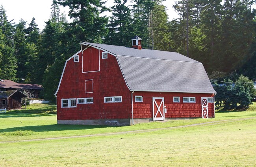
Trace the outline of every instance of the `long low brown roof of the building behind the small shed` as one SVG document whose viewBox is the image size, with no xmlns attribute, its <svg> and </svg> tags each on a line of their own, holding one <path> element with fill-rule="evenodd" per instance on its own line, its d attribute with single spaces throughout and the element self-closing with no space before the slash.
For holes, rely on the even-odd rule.
<svg viewBox="0 0 256 167">
<path fill-rule="evenodd" d="M 11 80 L 4 79 L 0 79 L 0 88 L 43 90 L 42 86 L 39 84 L 19 84 Z"/>
</svg>

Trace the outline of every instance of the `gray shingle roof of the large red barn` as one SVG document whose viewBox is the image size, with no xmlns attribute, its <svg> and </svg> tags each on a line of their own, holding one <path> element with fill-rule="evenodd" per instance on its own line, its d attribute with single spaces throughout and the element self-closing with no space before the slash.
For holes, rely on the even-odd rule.
<svg viewBox="0 0 256 167">
<path fill-rule="evenodd" d="M 115 55 L 132 91 L 216 93 L 202 63 L 179 53 L 81 43 Z"/>
</svg>

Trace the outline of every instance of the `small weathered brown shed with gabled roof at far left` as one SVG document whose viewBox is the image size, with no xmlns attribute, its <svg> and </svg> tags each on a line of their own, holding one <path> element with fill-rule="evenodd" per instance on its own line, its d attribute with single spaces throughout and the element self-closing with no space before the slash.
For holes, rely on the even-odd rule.
<svg viewBox="0 0 256 167">
<path fill-rule="evenodd" d="M 21 108 L 21 98 L 26 97 L 18 90 L 0 92 L 0 109 L 12 110 Z"/>
</svg>

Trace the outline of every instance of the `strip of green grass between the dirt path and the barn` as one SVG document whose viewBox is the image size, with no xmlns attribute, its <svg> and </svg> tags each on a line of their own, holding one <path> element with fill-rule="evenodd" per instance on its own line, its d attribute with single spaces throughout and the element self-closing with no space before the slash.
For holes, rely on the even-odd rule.
<svg viewBox="0 0 256 167">
<path fill-rule="evenodd" d="M 47 108 L 49 105 L 37 104 L 40 108 Z M 35 105 L 30 105 L 28 108 L 36 108 Z M 251 108 L 255 108 L 254 103 Z M 28 109 L 32 110 L 32 109 Z M 34 109 L 33 112 L 38 112 L 39 109 Z M 105 126 L 90 126 L 90 125 L 57 125 L 56 114 L 32 114 L 24 113 L 27 110 L 21 110 L 18 113 L 7 112 L 0 114 L 0 141 L 14 141 L 24 139 L 38 138 L 54 138 L 63 136 L 79 136 L 89 134 L 102 134 L 111 132 L 125 132 L 130 130 L 142 130 L 152 128 L 177 127 L 182 125 L 191 125 L 195 123 L 205 123 L 209 121 L 221 121 L 227 119 L 241 119 L 247 117 L 256 117 L 256 110 L 249 109 L 243 112 L 216 112 L 214 119 L 181 119 L 169 120 L 166 122 L 150 122 L 137 124 L 128 127 L 105 127 Z M 40 112 L 39 112 L 40 113 Z M 17 130 L 33 132 L 30 136 L 5 136 L 3 133 L 15 132 Z"/>
</svg>

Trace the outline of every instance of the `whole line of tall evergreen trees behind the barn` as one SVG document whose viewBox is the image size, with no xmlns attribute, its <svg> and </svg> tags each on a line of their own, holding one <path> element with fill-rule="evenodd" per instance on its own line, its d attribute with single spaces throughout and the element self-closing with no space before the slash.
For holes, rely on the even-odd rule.
<svg viewBox="0 0 256 167">
<path fill-rule="evenodd" d="M 35 18 L 13 24 L 1 6 L 0 79 L 42 84 L 45 99 L 55 101 L 65 61 L 80 50 L 80 41 L 131 47 L 135 35 L 142 48 L 202 62 L 212 79 L 230 73 L 256 79 L 255 0 L 177 0 L 179 18 L 171 21 L 163 0 L 127 1 L 114 0 L 108 8 L 102 0 L 53 0 L 42 31 Z M 69 6 L 72 22 L 59 6 Z M 102 16 L 105 11 L 112 15 Z"/>
</svg>

